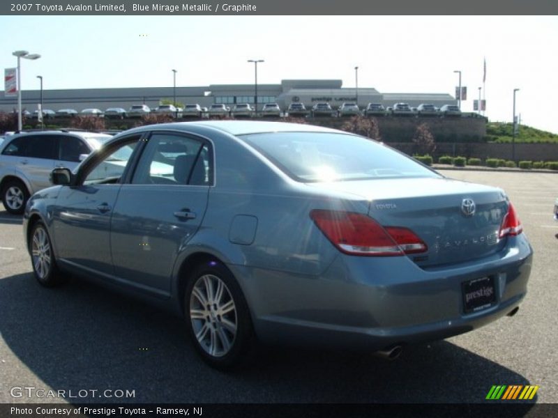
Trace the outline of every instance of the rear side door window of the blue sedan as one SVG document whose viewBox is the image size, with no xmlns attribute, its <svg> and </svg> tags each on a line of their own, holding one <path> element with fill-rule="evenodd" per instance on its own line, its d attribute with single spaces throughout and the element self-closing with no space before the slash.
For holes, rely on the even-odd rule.
<svg viewBox="0 0 558 418">
<path fill-rule="evenodd" d="M 210 185 L 211 150 L 203 141 L 155 133 L 137 164 L 132 184 Z"/>
</svg>

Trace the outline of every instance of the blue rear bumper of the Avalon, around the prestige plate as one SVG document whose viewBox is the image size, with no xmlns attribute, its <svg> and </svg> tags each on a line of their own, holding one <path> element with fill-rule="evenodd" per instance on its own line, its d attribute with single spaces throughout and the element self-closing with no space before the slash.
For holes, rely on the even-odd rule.
<svg viewBox="0 0 558 418">
<path fill-rule="evenodd" d="M 532 249 L 522 235 L 510 240 L 505 254 L 451 268 L 344 255 L 319 277 L 231 268 L 236 277 L 250 278 L 241 286 L 262 341 L 375 351 L 469 332 L 518 307 L 527 293 Z M 462 284 L 488 276 L 495 302 L 465 312 Z"/>
</svg>

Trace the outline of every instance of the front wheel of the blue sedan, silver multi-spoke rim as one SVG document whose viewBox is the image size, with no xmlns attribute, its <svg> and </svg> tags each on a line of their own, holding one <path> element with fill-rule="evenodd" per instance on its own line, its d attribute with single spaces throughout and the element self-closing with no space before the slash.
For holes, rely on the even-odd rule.
<svg viewBox="0 0 558 418">
<path fill-rule="evenodd" d="M 52 242 L 43 222 L 36 222 L 31 228 L 29 254 L 33 275 L 41 286 L 55 287 L 63 284 L 65 277 L 58 270 L 52 251 Z"/>
</svg>

